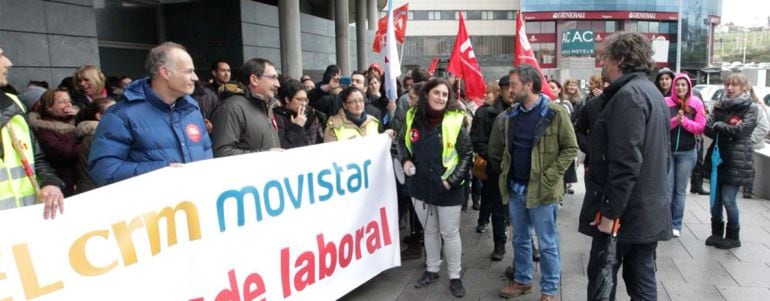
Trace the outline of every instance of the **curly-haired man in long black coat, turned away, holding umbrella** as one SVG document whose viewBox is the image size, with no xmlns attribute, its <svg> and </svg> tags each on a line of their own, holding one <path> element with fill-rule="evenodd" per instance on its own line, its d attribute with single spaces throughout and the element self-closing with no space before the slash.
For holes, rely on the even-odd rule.
<svg viewBox="0 0 770 301">
<path fill-rule="evenodd" d="M 638 33 L 618 34 L 605 41 L 599 56 L 602 76 L 611 84 L 597 99 L 603 103 L 591 128 L 590 176 L 580 212 L 579 231 L 593 237 L 587 269 L 589 299 L 601 279 L 599 252 L 609 239 L 613 221 L 619 219 L 613 273 L 622 263 L 631 299 L 657 300 L 655 250 L 658 241 L 672 236 L 671 207 L 663 189 L 669 113 L 663 95 L 647 78 L 653 66 L 649 39 Z M 594 222 L 597 212 L 599 223 Z M 611 300 L 614 293 L 615 287 Z"/>
</svg>

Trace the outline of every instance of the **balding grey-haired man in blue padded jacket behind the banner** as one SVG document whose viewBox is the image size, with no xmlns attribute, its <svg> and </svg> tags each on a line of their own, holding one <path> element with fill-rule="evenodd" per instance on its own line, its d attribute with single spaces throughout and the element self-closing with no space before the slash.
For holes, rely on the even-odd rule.
<svg viewBox="0 0 770 301">
<path fill-rule="evenodd" d="M 164 166 L 210 159 L 211 140 L 198 103 L 195 66 L 182 45 L 167 42 L 147 55 L 149 78 L 128 85 L 96 129 L 88 169 L 107 185 Z"/>
</svg>

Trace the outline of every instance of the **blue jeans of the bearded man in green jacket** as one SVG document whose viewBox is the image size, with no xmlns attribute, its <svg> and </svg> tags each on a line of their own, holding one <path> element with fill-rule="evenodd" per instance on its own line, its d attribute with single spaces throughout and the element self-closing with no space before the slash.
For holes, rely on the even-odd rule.
<svg viewBox="0 0 770 301">
<path fill-rule="evenodd" d="M 522 284 L 532 282 L 532 232 L 535 228 L 540 245 L 540 289 L 543 294 L 559 292 L 561 264 L 559 259 L 559 232 L 556 226 L 558 203 L 527 209 L 527 189 L 519 194 L 511 192 L 508 213 L 513 225 L 514 280 Z"/>
</svg>

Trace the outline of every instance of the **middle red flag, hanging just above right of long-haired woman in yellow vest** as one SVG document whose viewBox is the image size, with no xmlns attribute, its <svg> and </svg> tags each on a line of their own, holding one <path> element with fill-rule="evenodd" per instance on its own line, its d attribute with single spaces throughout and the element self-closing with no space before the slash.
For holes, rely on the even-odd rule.
<svg viewBox="0 0 770 301">
<path fill-rule="evenodd" d="M 468 38 L 468 32 L 465 31 L 465 19 L 462 11 L 460 12 L 460 29 L 457 31 L 457 39 L 452 49 L 452 57 L 449 58 L 447 71 L 465 80 L 465 94 L 481 106 L 484 102 L 487 86 L 484 83 L 484 75 L 481 74 L 479 62 L 473 53 L 471 39 Z"/>
</svg>

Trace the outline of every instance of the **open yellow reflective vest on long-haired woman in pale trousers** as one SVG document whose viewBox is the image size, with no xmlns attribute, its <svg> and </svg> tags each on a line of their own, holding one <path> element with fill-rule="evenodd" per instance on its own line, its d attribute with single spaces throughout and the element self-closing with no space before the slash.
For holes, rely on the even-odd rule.
<svg viewBox="0 0 770 301">
<path fill-rule="evenodd" d="M 412 153 L 412 140 L 409 134 L 412 131 L 412 122 L 414 122 L 415 108 L 409 109 L 406 112 L 406 135 L 404 135 L 404 143 L 406 150 Z M 460 110 L 450 110 L 444 113 L 444 119 L 441 121 L 441 162 L 444 166 L 444 173 L 441 175 L 441 179 L 446 180 L 457 168 L 457 164 L 460 163 L 460 158 L 457 156 L 457 137 L 460 136 L 460 130 L 463 127 L 463 120 L 465 120 L 465 112 Z"/>
</svg>

